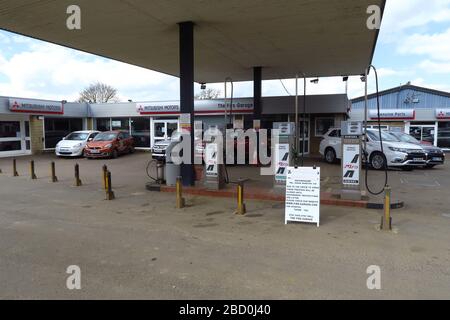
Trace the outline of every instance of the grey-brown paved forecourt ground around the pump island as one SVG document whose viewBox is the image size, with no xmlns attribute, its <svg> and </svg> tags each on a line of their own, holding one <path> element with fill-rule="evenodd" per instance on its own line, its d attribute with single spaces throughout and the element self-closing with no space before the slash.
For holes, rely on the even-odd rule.
<svg viewBox="0 0 450 320">
<path fill-rule="evenodd" d="M 0 298 L 336 299 L 450 298 L 450 165 L 391 172 L 393 233 L 377 231 L 381 212 L 322 207 L 320 228 L 283 224 L 283 205 L 144 190 L 148 154 L 117 160 L 58 159 L 60 182 L 49 181 L 53 156 L 0 159 Z M 83 186 L 73 187 L 73 165 Z M 117 199 L 103 200 L 101 166 L 113 172 Z M 339 166 L 320 163 L 334 188 Z M 238 170 L 236 170 L 236 174 Z M 373 184 L 380 174 L 371 171 Z M 81 268 L 82 289 L 66 289 L 66 268 Z M 382 290 L 366 287 L 370 265 Z"/>
</svg>

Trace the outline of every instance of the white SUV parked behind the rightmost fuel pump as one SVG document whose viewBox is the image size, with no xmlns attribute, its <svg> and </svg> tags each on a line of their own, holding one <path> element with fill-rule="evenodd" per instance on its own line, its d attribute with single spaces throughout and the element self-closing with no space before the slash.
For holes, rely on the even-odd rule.
<svg viewBox="0 0 450 320">
<path fill-rule="evenodd" d="M 409 170 L 426 165 L 426 153 L 417 145 L 401 142 L 394 136 L 381 132 L 384 154 L 381 152 L 379 131 L 367 130 L 367 156 L 372 168 L 376 170 L 387 167 Z M 320 143 L 320 154 L 328 163 L 342 159 L 341 129 L 330 129 Z"/>
</svg>

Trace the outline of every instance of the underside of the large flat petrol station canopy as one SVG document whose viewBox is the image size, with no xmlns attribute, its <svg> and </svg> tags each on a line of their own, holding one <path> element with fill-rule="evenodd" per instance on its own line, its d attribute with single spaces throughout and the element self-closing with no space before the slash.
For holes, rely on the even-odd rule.
<svg viewBox="0 0 450 320">
<path fill-rule="evenodd" d="M 81 8 L 69 30 L 67 7 Z M 179 76 L 178 23 L 192 21 L 195 81 L 359 75 L 378 31 L 367 8 L 385 0 L 2 0 L 0 28 Z M 0 48 L 1 50 L 1 48 Z"/>
</svg>

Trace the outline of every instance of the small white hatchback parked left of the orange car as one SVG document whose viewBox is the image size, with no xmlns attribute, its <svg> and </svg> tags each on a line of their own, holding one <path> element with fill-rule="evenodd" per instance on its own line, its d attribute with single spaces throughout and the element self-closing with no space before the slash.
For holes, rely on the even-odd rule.
<svg viewBox="0 0 450 320">
<path fill-rule="evenodd" d="M 75 131 L 64 137 L 55 148 L 58 157 L 81 157 L 86 143 L 94 139 L 99 131 Z"/>
</svg>

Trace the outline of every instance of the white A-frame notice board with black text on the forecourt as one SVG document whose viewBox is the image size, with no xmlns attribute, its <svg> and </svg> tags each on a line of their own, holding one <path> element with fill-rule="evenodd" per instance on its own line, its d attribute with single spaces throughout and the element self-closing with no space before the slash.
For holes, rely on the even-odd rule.
<svg viewBox="0 0 450 320">
<path fill-rule="evenodd" d="M 320 168 L 287 168 L 285 223 L 320 224 Z"/>
</svg>

